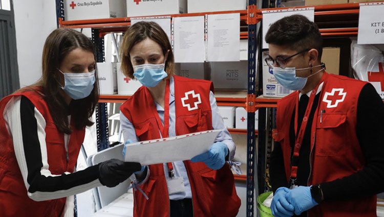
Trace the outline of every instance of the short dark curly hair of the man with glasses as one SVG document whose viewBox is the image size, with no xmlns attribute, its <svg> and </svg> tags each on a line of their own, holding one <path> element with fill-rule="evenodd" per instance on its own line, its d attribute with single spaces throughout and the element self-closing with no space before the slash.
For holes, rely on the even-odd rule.
<svg viewBox="0 0 384 217">
<path fill-rule="evenodd" d="M 266 36 L 265 41 L 270 44 L 288 46 L 297 52 L 305 49 L 316 49 L 318 60 L 323 53 L 323 38 L 316 23 L 303 15 L 286 16 L 274 22 Z"/>
</svg>

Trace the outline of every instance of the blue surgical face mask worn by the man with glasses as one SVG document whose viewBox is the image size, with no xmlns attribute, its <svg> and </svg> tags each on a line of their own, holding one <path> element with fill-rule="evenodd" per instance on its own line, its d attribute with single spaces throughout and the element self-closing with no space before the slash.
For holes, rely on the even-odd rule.
<svg viewBox="0 0 384 217">
<path fill-rule="evenodd" d="M 290 90 L 302 90 L 305 87 L 305 84 L 307 83 L 307 80 L 309 77 L 316 75 L 320 71 L 324 70 L 324 68 L 316 71 L 316 73 L 302 78 L 302 77 L 296 77 L 296 71 L 298 70 L 307 70 L 313 67 L 318 67 L 318 66 L 323 66 L 322 65 L 317 65 L 317 66 L 312 66 L 308 68 L 292 68 L 292 67 L 287 67 L 287 68 L 280 68 L 280 67 L 273 67 L 273 76 L 275 77 L 276 80 L 278 80 L 279 84 L 281 84 L 283 87 L 290 89 Z"/>
</svg>

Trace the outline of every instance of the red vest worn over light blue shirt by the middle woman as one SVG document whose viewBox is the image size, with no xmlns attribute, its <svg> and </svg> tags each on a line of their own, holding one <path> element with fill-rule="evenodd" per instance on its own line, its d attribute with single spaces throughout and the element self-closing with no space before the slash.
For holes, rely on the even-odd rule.
<svg viewBox="0 0 384 217">
<path fill-rule="evenodd" d="M 174 84 L 176 134 L 211 130 L 209 91 L 213 91 L 212 82 L 174 76 Z M 198 95 L 201 103 L 197 103 Z M 158 115 L 156 106 L 147 88 L 139 88 L 120 110 L 134 125 L 140 141 L 160 138 L 155 116 Z M 191 186 L 195 217 L 237 215 L 241 202 L 228 164 L 217 171 L 211 170 L 202 162 L 186 160 L 184 164 Z M 169 216 L 169 197 L 163 164 L 150 165 L 150 178 L 140 187 L 149 200 L 140 192 L 134 192 L 134 216 Z"/>
</svg>

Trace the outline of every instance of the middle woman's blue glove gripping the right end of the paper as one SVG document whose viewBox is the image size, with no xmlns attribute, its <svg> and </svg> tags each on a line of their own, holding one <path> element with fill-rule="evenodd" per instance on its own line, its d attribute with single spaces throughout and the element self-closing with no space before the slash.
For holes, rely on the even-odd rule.
<svg viewBox="0 0 384 217">
<path fill-rule="evenodd" d="M 204 162 L 212 170 L 219 170 L 225 164 L 225 157 L 229 150 L 226 144 L 223 142 L 215 142 L 210 149 L 198 156 L 190 159 L 192 162 Z"/>
</svg>

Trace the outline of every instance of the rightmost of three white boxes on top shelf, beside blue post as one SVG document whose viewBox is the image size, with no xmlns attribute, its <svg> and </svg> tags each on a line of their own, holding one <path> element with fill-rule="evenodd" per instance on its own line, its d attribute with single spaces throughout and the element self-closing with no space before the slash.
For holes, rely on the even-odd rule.
<svg viewBox="0 0 384 217">
<path fill-rule="evenodd" d="M 247 9 L 246 0 L 188 0 L 188 13 L 245 9 Z"/>
</svg>

